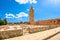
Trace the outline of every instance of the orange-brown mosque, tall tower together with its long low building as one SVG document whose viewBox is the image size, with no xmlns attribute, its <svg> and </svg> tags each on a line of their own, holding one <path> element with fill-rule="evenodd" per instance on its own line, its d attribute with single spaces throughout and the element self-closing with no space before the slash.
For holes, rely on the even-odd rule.
<svg viewBox="0 0 60 40">
<path fill-rule="evenodd" d="M 39 20 L 35 22 L 33 7 L 30 8 L 29 16 L 30 16 L 30 20 L 29 20 L 30 25 L 59 25 L 60 24 L 60 19 Z"/>
</svg>

